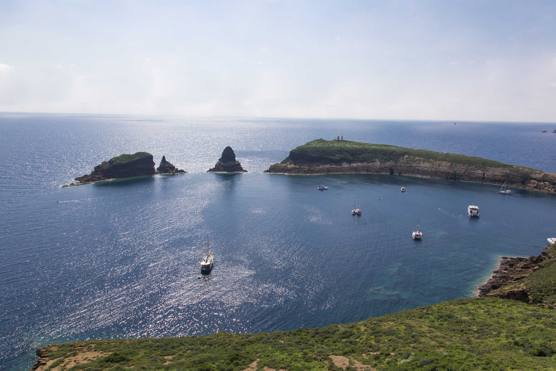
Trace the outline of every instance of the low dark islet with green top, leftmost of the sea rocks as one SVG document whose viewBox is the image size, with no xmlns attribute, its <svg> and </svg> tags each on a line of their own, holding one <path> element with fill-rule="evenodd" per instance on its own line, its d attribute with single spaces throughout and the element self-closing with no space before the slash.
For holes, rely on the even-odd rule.
<svg viewBox="0 0 556 371">
<path fill-rule="evenodd" d="M 100 165 L 95 166 L 91 174 L 78 176 L 75 178 L 77 183 L 69 185 L 155 174 L 155 161 L 153 161 L 152 155 L 148 152 L 136 152 L 133 155 L 123 154 L 112 157 L 108 161 L 102 161 Z"/>
</svg>

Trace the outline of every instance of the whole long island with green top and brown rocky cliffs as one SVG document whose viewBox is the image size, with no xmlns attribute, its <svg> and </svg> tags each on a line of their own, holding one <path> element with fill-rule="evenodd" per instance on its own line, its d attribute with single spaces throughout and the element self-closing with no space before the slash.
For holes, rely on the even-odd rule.
<svg viewBox="0 0 556 371">
<path fill-rule="evenodd" d="M 290 151 L 264 172 L 375 173 L 459 180 L 556 192 L 556 174 L 481 157 L 362 142 L 317 139 Z"/>
</svg>

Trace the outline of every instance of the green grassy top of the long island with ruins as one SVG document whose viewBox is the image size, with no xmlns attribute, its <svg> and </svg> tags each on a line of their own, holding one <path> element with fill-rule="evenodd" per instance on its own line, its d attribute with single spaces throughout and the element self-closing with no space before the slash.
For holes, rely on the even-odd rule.
<svg viewBox="0 0 556 371">
<path fill-rule="evenodd" d="M 284 161 L 291 161 L 294 164 L 301 160 L 330 162 L 332 164 L 340 164 L 342 162 L 371 163 L 376 160 L 380 162 L 398 161 L 404 156 L 419 157 L 420 159 L 432 161 L 444 161 L 452 164 L 497 167 L 499 169 L 535 170 L 528 167 L 508 165 L 503 162 L 487 160 L 475 156 L 450 154 L 429 150 L 417 150 L 386 144 L 324 139 L 316 139 L 302 146 L 296 147 L 294 150 L 290 151 L 290 155 L 286 157 Z"/>
</svg>

